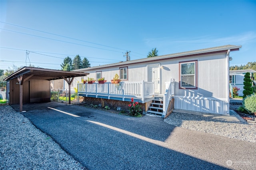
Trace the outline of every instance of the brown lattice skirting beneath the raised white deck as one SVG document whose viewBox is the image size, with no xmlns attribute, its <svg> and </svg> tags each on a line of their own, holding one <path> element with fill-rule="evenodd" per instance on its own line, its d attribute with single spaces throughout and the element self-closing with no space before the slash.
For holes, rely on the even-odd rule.
<svg viewBox="0 0 256 170">
<path fill-rule="evenodd" d="M 102 106 L 103 105 L 108 106 L 113 109 L 120 107 L 121 110 L 129 110 L 128 105 L 132 103 L 132 102 L 124 102 L 120 100 L 108 100 L 103 98 L 92 98 L 92 97 L 84 97 L 84 102 L 86 104 L 94 104 L 94 105 L 101 104 Z M 136 102 L 136 100 L 134 100 L 134 102 Z M 152 102 L 153 101 L 146 102 L 146 103 L 139 103 L 141 105 L 141 110 L 147 111 Z"/>
</svg>

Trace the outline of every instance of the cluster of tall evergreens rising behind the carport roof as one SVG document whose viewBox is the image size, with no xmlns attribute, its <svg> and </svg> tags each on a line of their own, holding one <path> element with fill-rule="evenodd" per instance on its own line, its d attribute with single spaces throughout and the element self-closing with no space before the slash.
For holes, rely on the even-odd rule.
<svg viewBox="0 0 256 170">
<path fill-rule="evenodd" d="M 79 55 L 76 55 L 74 60 L 67 56 L 64 58 L 64 61 L 62 64 L 60 64 L 61 70 L 64 71 L 71 71 L 71 70 L 77 70 L 80 68 L 88 68 L 91 66 L 89 60 L 84 57 L 83 60 L 81 60 L 81 57 Z"/>
</svg>

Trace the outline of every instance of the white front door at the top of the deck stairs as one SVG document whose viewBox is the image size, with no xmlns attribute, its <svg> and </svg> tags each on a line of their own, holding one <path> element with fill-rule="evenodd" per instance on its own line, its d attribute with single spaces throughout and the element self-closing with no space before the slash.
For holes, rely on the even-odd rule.
<svg viewBox="0 0 256 170">
<path fill-rule="evenodd" d="M 159 64 L 148 66 L 148 81 L 154 82 L 154 92 L 160 93 L 160 68 Z"/>
</svg>

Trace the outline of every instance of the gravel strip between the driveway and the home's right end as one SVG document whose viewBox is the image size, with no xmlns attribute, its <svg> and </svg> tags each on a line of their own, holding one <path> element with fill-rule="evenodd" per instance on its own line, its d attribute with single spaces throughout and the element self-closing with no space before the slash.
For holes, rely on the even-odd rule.
<svg viewBox="0 0 256 170">
<path fill-rule="evenodd" d="M 230 109 L 239 106 L 241 105 L 230 104 Z M 164 122 L 190 130 L 256 142 L 256 123 L 234 122 L 178 112 L 172 112 Z"/>
</svg>

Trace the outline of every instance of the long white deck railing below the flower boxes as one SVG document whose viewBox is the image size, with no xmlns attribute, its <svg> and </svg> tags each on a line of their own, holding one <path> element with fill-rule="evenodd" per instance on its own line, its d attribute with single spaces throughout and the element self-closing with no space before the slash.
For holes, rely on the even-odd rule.
<svg viewBox="0 0 256 170">
<path fill-rule="evenodd" d="M 106 82 L 104 84 L 78 84 L 78 94 L 108 96 L 120 96 L 141 98 L 142 102 L 148 96 L 154 95 L 154 82 L 120 82 L 118 84 L 112 84 Z"/>
</svg>

